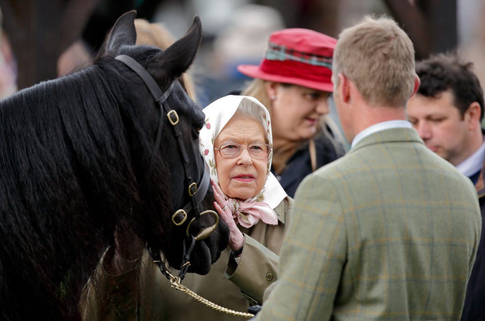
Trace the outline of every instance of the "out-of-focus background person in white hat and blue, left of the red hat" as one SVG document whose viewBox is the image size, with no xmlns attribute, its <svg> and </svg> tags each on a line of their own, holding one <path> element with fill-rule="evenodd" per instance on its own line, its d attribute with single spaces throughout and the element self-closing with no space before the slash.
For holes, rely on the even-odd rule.
<svg viewBox="0 0 485 321">
<path fill-rule="evenodd" d="M 210 54 L 199 64 L 203 70 L 197 71 L 203 106 L 241 90 L 250 78 L 238 72 L 237 66 L 259 63 L 271 33 L 285 28 L 281 13 L 266 5 L 240 5 L 227 16 L 228 21 L 212 36 Z"/>
</svg>

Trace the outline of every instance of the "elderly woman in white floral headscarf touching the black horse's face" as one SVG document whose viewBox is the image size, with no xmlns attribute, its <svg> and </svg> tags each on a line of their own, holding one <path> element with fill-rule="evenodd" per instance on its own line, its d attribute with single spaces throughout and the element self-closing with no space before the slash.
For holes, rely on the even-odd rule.
<svg viewBox="0 0 485 321">
<path fill-rule="evenodd" d="M 229 247 L 210 272 L 187 274 L 182 284 L 213 303 L 245 312 L 262 302 L 265 288 L 276 280 L 277 254 L 293 200 L 269 170 L 271 121 L 261 103 L 252 97 L 226 96 L 203 111 L 200 151 L 210 167 L 214 207 L 231 235 Z M 235 318 L 172 289 L 146 253 L 127 262 L 119 275 L 101 267 L 97 273 L 103 288 L 88 284 L 84 291 L 85 320 Z"/>
</svg>

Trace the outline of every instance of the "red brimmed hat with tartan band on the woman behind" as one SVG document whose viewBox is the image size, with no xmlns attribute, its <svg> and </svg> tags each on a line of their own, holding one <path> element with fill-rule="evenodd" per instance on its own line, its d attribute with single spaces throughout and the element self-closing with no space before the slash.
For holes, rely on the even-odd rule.
<svg viewBox="0 0 485 321">
<path fill-rule="evenodd" d="M 239 65 L 252 78 L 333 92 L 332 56 L 337 39 L 309 29 L 273 32 L 265 57 L 256 65 Z"/>
</svg>

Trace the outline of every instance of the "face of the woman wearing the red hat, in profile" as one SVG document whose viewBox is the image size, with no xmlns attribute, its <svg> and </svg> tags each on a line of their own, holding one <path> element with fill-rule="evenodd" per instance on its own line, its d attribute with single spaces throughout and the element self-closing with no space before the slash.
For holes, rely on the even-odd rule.
<svg viewBox="0 0 485 321">
<path fill-rule="evenodd" d="M 329 113 L 328 92 L 280 83 L 268 83 L 266 91 L 275 97 L 271 106 L 275 147 L 313 137 L 320 118 Z"/>
</svg>

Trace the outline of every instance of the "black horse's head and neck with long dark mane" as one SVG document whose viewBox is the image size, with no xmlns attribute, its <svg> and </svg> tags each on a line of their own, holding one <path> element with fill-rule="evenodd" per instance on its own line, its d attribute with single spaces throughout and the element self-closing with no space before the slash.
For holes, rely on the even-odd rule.
<svg viewBox="0 0 485 321">
<path fill-rule="evenodd" d="M 205 168 L 197 131 L 204 115 L 180 81 L 200 22 L 161 51 L 135 46 L 134 17 L 118 19 L 91 66 L 0 101 L 1 320 L 79 319 L 81 290 L 120 225 L 179 268 L 187 233 L 214 222 L 202 215 L 188 229 L 196 211 L 180 226 L 172 221 L 192 200 L 184 164 L 196 183 Z M 145 82 L 115 59 L 120 54 L 162 92 L 173 84 L 166 103 L 178 115 L 179 136 Z M 210 188 L 204 202 L 200 210 L 212 208 Z M 196 242 L 191 270 L 206 273 L 227 242 L 221 222 Z"/>
</svg>

